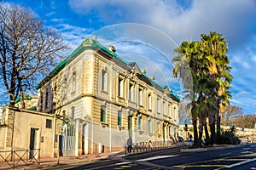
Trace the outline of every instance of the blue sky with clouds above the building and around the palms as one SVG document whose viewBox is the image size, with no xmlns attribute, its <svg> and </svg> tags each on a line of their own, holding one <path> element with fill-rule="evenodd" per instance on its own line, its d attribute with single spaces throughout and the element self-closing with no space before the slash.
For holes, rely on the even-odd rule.
<svg viewBox="0 0 256 170">
<path fill-rule="evenodd" d="M 96 36 L 117 54 L 181 95 L 172 77 L 173 48 L 217 31 L 229 45 L 232 105 L 256 113 L 256 2 L 254 0 L 7 0 L 32 8 L 75 48 Z M 67 52 L 69 54 L 71 51 Z"/>
</svg>

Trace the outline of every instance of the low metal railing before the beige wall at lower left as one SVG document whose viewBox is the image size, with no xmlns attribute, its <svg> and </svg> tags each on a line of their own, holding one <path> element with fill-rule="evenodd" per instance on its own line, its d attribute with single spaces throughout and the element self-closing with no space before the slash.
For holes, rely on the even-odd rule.
<svg viewBox="0 0 256 170">
<path fill-rule="evenodd" d="M 0 168 L 40 164 L 40 149 L 0 151 Z"/>
</svg>

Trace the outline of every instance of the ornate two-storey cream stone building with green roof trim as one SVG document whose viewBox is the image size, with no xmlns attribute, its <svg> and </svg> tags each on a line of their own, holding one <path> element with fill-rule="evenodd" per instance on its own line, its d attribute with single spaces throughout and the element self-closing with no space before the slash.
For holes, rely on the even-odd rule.
<svg viewBox="0 0 256 170">
<path fill-rule="evenodd" d="M 96 38 L 85 38 L 37 89 L 38 111 L 64 117 L 64 156 L 123 150 L 129 136 L 137 143 L 177 133 L 177 95 Z"/>
</svg>

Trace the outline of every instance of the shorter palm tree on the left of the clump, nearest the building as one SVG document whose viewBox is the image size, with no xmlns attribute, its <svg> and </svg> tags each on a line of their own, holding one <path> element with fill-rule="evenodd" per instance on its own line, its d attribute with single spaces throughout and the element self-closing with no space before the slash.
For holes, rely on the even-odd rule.
<svg viewBox="0 0 256 170">
<path fill-rule="evenodd" d="M 196 145 L 201 145 L 201 138 L 198 140 L 197 121 L 200 118 L 201 122 L 201 103 L 198 103 L 200 91 L 200 77 L 201 77 L 201 53 L 200 42 L 182 42 L 182 44 L 175 49 L 177 56 L 172 59 L 174 63 L 173 76 L 179 77 L 183 82 L 184 92 L 190 99 L 189 111 L 191 113 L 193 127 L 194 127 L 194 140 Z M 201 125 L 201 124 L 200 124 Z M 201 128 L 200 134 L 201 132 Z"/>
</svg>

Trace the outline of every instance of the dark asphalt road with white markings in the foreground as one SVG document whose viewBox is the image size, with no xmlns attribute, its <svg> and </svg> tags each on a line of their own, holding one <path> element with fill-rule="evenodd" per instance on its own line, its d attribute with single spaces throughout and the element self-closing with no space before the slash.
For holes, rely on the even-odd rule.
<svg viewBox="0 0 256 170">
<path fill-rule="evenodd" d="M 112 156 L 90 164 L 65 169 L 256 169 L 256 144 L 241 144 L 218 150 L 180 152 L 181 148 L 130 156 Z"/>
</svg>

